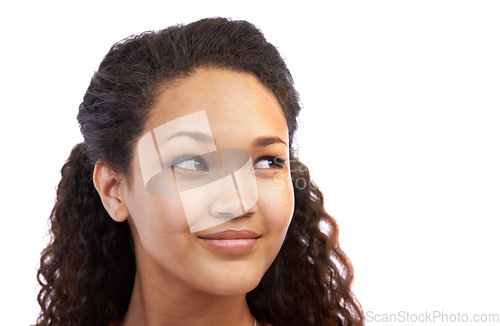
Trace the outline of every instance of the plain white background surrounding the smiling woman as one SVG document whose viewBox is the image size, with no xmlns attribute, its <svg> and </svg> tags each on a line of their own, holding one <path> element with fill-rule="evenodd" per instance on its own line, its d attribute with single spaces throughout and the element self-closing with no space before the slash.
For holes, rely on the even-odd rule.
<svg viewBox="0 0 500 326">
<path fill-rule="evenodd" d="M 103 56 L 130 34 L 209 16 L 253 22 L 286 58 L 304 106 L 300 155 L 365 312 L 500 314 L 498 1 L 25 1 L 0 12 L 1 325 L 36 320 L 59 170 Z"/>
</svg>

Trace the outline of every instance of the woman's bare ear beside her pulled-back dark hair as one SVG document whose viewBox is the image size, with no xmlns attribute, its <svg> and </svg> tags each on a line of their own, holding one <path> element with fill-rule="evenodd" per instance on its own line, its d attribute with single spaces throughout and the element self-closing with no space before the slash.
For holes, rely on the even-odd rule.
<svg viewBox="0 0 500 326">
<path fill-rule="evenodd" d="M 101 196 L 104 208 L 116 222 L 123 222 L 129 216 L 123 198 L 123 183 L 120 177 L 107 165 L 97 162 L 94 166 L 94 186 Z"/>
</svg>

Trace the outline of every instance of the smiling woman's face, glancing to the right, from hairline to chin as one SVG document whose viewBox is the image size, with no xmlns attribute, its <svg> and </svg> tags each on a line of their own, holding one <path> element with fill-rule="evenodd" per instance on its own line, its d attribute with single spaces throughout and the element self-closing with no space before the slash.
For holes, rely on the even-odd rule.
<svg viewBox="0 0 500 326">
<path fill-rule="evenodd" d="M 190 128 L 204 128 L 211 139 Z M 138 273 L 213 294 L 251 291 L 276 257 L 294 208 L 288 128 L 278 101 L 250 74 L 200 69 L 161 89 L 142 138 L 158 130 L 170 137 L 155 139 L 152 155 L 155 147 L 147 154 L 138 142 L 124 190 Z M 157 183 L 165 193 L 148 188 L 148 160 L 155 159 L 173 176 Z M 213 176 L 218 164 L 224 182 L 197 181 Z M 240 179 L 228 173 L 240 166 Z"/>
</svg>

